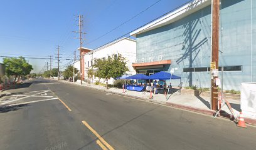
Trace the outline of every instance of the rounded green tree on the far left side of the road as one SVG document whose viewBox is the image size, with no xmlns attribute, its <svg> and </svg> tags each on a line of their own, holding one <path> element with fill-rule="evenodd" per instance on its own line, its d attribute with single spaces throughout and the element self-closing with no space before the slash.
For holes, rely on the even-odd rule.
<svg viewBox="0 0 256 150">
<path fill-rule="evenodd" d="M 7 76 L 14 76 L 14 82 L 16 78 L 20 76 L 26 76 L 33 70 L 31 64 L 28 64 L 23 57 L 19 58 L 4 58 L 4 65 L 6 66 L 6 74 Z"/>
</svg>

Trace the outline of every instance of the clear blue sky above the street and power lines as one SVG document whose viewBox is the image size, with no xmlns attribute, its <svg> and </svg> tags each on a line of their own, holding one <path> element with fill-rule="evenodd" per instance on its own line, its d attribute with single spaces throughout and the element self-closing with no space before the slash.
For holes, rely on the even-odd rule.
<svg viewBox="0 0 256 150">
<path fill-rule="evenodd" d="M 60 45 L 63 58 L 73 59 L 79 46 L 77 18 L 84 17 L 84 47 L 95 49 L 103 44 L 156 19 L 189 0 L 2 0 L 0 2 L 0 56 L 45 58 L 56 53 Z M 156 3 L 147 11 L 146 8 Z M 113 32 L 91 42 L 136 16 Z M 87 44 L 90 42 L 90 44 Z M 15 55 L 14 55 L 15 54 Z M 77 53 L 78 54 L 78 53 Z M 29 56 L 28 56 L 29 55 Z M 30 56 L 31 55 L 31 56 Z M 72 58 L 71 58 L 72 57 Z M 45 65 L 46 59 L 28 59 L 34 72 Z M 0 63 L 2 62 L 0 58 Z M 61 65 L 68 63 L 62 61 Z M 56 67 L 56 61 L 54 62 Z"/>
</svg>

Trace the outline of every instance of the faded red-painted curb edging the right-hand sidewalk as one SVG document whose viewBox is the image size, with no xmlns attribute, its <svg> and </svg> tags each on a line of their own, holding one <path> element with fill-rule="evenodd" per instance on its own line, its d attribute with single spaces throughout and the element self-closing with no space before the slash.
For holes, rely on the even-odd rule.
<svg viewBox="0 0 256 150">
<path fill-rule="evenodd" d="M 62 83 L 65 83 L 65 82 L 62 82 Z M 73 84 L 73 85 L 81 86 L 80 84 Z M 125 96 L 125 97 L 128 97 L 128 98 L 140 99 L 142 101 L 150 101 L 152 103 L 157 103 L 157 104 L 164 104 L 166 106 L 171 106 L 173 108 L 184 109 L 184 110 L 193 111 L 193 112 L 196 112 L 196 113 L 207 114 L 207 115 L 210 115 L 210 116 L 214 116 L 215 113 L 216 113 L 216 111 L 194 108 L 194 107 L 191 107 L 191 106 L 185 106 L 185 105 L 176 104 L 176 103 L 161 102 L 161 101 L 156 101 L 156 100 L 152 100 L 152 99 L 141 98 L 141 97 L 138 97 L 138 96 L 131 96 L 131 95 L 128 95 L 128 94 L 123 94 L 123 93 L 115 93 L 113 91 L 108 91 L 107 89 L 97 89 L 97 88 L 92 88 L 91 86 L 85 86 L 85 87 L 90 88 L 90 89 L 95 89 L 95 90 L 98 90 L 98 91 L 103 91 L 105 93 L 112 93 L 112 94 L 116 94 L 116 95 L 119 95 L 119 96 Z M 220 111 L 220 117 L 225 118 L 225 119 L 230 119 L 232 121 L 234 119 L 232 114 L 228 114 L 225 111 Z M 252 126 L 256 126 L 256 119 L 245 118 L 245 123 L 250 124 Z"/>
</svg>

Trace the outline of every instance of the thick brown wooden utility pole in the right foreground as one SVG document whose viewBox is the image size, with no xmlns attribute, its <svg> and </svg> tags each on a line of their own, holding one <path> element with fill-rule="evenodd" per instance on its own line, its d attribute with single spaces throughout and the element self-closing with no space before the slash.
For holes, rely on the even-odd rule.
<svg viewBox="0 0 256 150">
<path fill-rule="evenodd" d="M 218 108 L 218 53 L 219 53 L 219 28 L 220 28 L 220 0 L 213 0 L 212 3 L 212 47 L 211 47 L 211 109 Z M 215 75 L 213 75 L 215 74 Z"/>
</svg>

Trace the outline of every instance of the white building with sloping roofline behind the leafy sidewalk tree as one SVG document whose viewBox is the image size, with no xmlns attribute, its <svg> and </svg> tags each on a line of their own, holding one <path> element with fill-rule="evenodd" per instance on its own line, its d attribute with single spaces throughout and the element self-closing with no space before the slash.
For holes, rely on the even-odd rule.
<svg viewBox="0 0 256 150">
<path fill-rule="evenodd" d="M 112 56 L 112 54 L 121 54 L 122 57 L 126 59 L 127 68 L 129 69 L 126 74 L 136 74 L 136 71 L 132 67 L 132 63 L 135 63 L 136 61 L 136 41 L 134 39 L 123 38 L 83 54 L 84 80 L 88 80 L 87 71 L 92 68 L 95 59 L 107 59 L 109 56 Z M 76 63 L 75 66 L 79 67 L 80 70 L 80 62 Z M 93 70 L 96 71 L 97 69 L 93 68 Z M 91 82 L 95 83 L 96 81 L 105 83 L 105 79 L 99 79 L 93 76 Z M 111 78 L 108 82 L 109 84 L 113 84 L 114 80 Z"/>
</svg>

